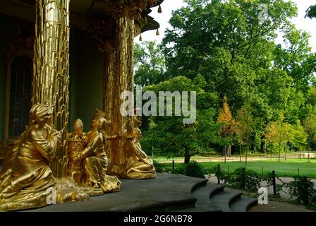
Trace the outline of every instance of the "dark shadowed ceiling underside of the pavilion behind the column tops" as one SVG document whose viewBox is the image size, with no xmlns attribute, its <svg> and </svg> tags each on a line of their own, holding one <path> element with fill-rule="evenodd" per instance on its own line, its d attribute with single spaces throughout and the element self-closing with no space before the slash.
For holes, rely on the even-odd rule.
<svg viewBox="0 0 316 226">
<path fill-rule="evenodd" d="M 9 16 L 21 18 L 35 22 L 35 1 L 36 0 L 0 0 L 0 13 L 7 14 Z M 158 0 L 157 4 L 161 4 L 164 0 Z M 100 18 L 109 17 L 107 6 L 94 0 L 73 0 L 70 1 L 71 11 L 71 26 L 79 30 L 85 30 L 87 25 L 92 21 Z M 148 16 L 151 9 L 142 13 L 142 16 L 147 17 L 148 23 L 142 28 L 142 32 L 146 30 L 154 30 L 159 28 L 154 18 Z"/>
</svg>

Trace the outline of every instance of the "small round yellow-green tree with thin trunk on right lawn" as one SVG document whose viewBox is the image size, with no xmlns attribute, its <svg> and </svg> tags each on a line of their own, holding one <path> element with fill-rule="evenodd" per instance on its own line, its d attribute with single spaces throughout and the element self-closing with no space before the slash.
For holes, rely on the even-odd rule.
<svg viewBox="0 0 316 226">
<path fill-rule="evenodd" d="M 291 125 L 286 122 L 274 121 L 267 126 L 267 133 L 265 138 L 271 143 L 277 143 L 279 145 L 279 162 L 281 157 L 281 148 L 288 141 L 291 141 Z"/>
</svg>

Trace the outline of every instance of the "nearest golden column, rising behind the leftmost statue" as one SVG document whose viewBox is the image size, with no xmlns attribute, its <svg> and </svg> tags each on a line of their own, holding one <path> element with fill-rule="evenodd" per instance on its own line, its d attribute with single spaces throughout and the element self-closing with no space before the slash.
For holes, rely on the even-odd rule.
<svg viewBox="0 0 316 226">
<path fill-rule="evenodd" d="M 37 0 L 32 105 L 54 106 L 51 125 L 63 143 L 51 162 L 55 177 L 66 176 L 68 133 L 69 1 Z"/>
</svg>

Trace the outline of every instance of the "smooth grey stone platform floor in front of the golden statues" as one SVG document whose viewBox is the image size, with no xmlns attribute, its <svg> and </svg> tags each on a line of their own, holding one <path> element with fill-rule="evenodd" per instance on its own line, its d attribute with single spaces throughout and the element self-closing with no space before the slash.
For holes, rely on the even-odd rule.
<svg viewBox="0 0 316 226">
<path fill-rule="evenodd" d="M 88 201 L 64 203 L 44 208 L 24 210 L 32 212 L 72 211 L 168 211 L 194 206 L 197 200 L 192 194 L 194 186 L 205 179 L 181 174 L 157 174 L 156 179 L 121 179 L 121 191 L 90 197 Z"/>
</svg>

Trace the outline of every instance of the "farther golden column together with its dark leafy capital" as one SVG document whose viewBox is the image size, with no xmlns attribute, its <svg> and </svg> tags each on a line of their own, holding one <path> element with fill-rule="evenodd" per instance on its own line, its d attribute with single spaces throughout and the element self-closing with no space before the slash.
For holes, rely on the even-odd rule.
<svg viewBox="0 0 316 226">
<path fill-rule="evenodd" d="M 125 102 L 121 100 L 121 93 L 133 93 L 133 39 L 135 34 L 135 20 L 141 19 L 140 13 L 147 6 L 154 6 L 156 0 L 114 1 L 96 0 L 106 5 L 111 19 L 104 22 L 99 20 L 92 23 L 90 33 L 104 53 L 104 97 L 103 109 L 112 124 L 108 128 L 108 135 L 118 135 L 127 130 L 128 119 L 120 112 Z M 119 177 L 126 175 L 126 161 L 130 156 L 126 154 L 124 145 L 126 137 L 121 136 L 107 141 L 107 157 L 109 158 L 108 174 Z"/>
</svg>

